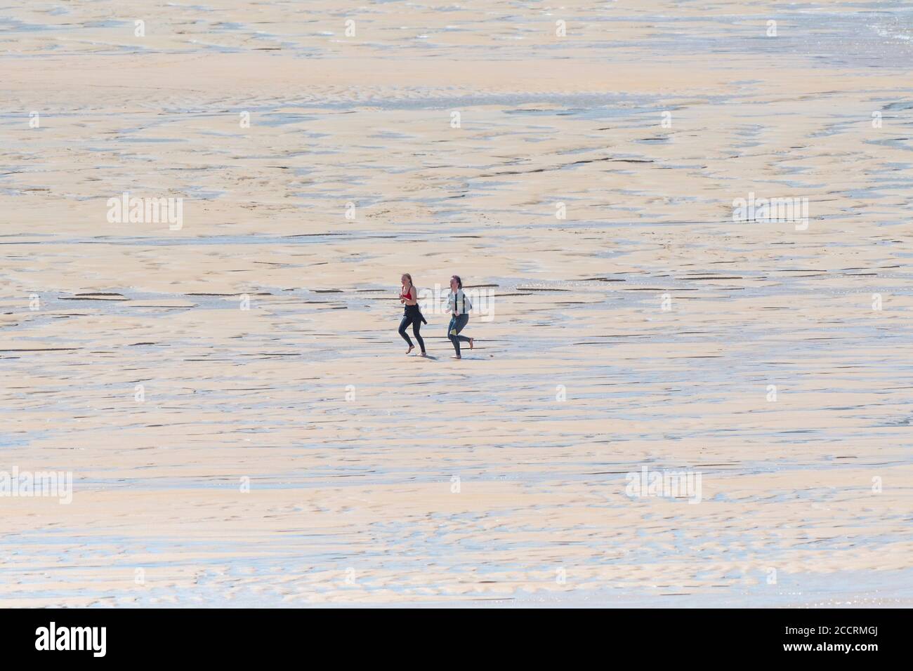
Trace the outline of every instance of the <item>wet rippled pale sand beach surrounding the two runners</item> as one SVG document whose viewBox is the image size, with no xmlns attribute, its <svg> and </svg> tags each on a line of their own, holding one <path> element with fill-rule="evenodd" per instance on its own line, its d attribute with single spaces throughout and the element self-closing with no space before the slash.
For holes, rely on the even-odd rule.
<svg viewBox="0 0 913 671">
<path fill-rule="evenodd" d="M 0 498 L 0 605 L 913 605 L 913 10 L 104 0 L 0 52 L 0 471 L 73 478 Z M 404 272 L 489 298 L 462 361 Z"/>
</svg>

